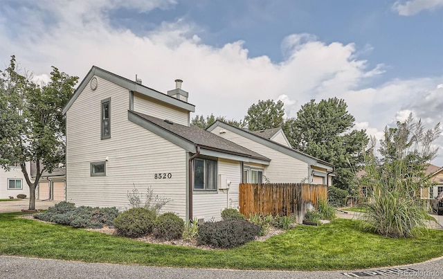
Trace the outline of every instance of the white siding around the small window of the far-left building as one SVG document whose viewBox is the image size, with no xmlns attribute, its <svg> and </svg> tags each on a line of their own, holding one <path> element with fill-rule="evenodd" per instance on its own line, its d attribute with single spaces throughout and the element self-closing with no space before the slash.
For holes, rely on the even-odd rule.
<svg viewBox="0 0 443 279">
<path fill-rule="evenodd" d="M 30 163 L 26 163 L 28 173 L 30 173 Z M 8 179 L 21 179 L 21 189 L 8 189 Z M 8 199 L 10 196 L 17 197 L 24 194 L 29 197 L 29 187 L 26 183 L 20 167 L 11 167 L 9 171 L 0 168 L 0 199 Z"/>
</svg>

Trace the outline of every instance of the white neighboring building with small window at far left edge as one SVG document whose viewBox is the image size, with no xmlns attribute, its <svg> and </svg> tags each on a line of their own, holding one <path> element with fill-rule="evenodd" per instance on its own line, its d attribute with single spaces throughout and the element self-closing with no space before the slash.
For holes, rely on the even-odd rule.
<svg viewBox="0 0 443 279">
<path fill-rule="evenodd" d="M 26 163 L 26 169 L 30 172 L 30 163 Z M 0 199 L 16 198 L 19 194 L 29 197 L 29 187 L 20 165 L 11 165 L 9 171 L 0 168 Z"/>
</svg>

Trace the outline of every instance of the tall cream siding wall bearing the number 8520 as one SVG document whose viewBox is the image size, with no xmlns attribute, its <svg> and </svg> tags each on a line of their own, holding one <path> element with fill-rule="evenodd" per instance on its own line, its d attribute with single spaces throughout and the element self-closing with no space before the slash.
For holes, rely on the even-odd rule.
<svg viewBox="0 0 443 279">
<path fill-rule="evenodd" d="M 125 210 L 134 186 L 143 196 L 152 188 L 154 195 L 172 199 L 164 211 L 185 219 L 185 150 L 130 122 L 127 89 L 96 78 L 96 91 L 87 85 L 66 113 L 66 201 Z M 111 98 L 111 138 L 101 140 L 100 104 L 106 98 Z M 106 176 L 91 177 L 91 162 L 100 161 L 106 162 Z M 159 173 L 170 173 L 170 179 L 155 179 Z"/>
</svg>

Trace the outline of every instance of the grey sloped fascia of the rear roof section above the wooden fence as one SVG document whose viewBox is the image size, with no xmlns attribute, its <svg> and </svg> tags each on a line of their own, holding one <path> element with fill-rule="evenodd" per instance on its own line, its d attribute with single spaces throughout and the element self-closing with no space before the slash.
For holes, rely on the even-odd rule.
<svg viewBox="0 0 443 279">
<path fill-rule="evenodd" d="M 244 129 L 237 128 L 233 125 L 229 125 L 228 123 L 224 123 L 223 121 L 220 121 L 220 120 L 215 121 L 215 123 L 213 123 L 208 128 L 206 128 L 206 130 L 208 132 L 211 132 L 216 127 L 228 129 L 230 132 L 234 132 L 235 134 L 239 134 L 240 136 L 244 136 L 245 138 L 248 138 L 251 141 L 255 141 L 255 142 L 260 143 L 266 147 L 272 148 L 273 150 L 277 150 L 278 152 L 282 152 L 283 154 L 287 154 L 288 156 L 296 158 L 300 161 L 303 161 L 305 163 L 309 163 L 309 165 L 314 165 L 314 166 L 317 166 L 320 168 L 326 168 L 326 169 L 330 168 L 330 169 L 334 170 L 334 165 L 332 165 L 331 163 L 327 163 L 326 161 L 317 159 L 314 156 L 310 156 L 308 154 L 305 154 L 305 153 L 295 150 L 293 148 L 289 148 L 289 147 L 284 146 L 280 143 L 275 143 L 275 141 L 271 141 L 267 138 L 257 136 L 256 134 L 248 132 Z"/>
</svg>

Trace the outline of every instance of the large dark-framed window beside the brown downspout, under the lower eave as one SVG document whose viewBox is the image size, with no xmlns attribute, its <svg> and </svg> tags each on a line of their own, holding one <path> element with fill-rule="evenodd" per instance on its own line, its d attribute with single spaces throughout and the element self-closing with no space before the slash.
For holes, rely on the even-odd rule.
<svg viewBox="0 0 443 279">
<path fill-rule="evenodd" d="M 194 160 L 194 190 L 217 190 L 217 161 Z"/>
</svg>

